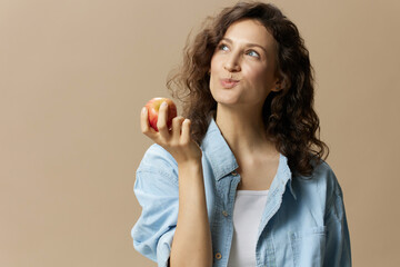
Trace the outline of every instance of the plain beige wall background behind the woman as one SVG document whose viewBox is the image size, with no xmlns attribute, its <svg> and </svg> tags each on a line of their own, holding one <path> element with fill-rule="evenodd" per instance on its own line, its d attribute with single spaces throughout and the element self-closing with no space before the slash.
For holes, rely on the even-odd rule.
<svg viewBox="0 0 400 267">
<path fill-rule="evenodd" d="M 148 99 L 236 1 L 0 1 L 0 266 L 154 266 L 132 248 Z M 354 266 L 399 266 L 400 2 L 282 0 L 317 73 Z"/>
</svg>

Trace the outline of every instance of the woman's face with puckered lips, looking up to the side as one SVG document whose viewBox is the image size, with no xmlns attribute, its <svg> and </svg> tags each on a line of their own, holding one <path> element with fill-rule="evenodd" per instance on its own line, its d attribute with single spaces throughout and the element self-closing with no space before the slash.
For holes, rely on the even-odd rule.
<svg viewBox="0 0 400 267">
<path fill-rule="evenodd" d="M 259 21 L 232 23 L 211 58 L 210 89 L 220 105 L 259 105 L 277 91 L 276 41 Z"/>
</svg>

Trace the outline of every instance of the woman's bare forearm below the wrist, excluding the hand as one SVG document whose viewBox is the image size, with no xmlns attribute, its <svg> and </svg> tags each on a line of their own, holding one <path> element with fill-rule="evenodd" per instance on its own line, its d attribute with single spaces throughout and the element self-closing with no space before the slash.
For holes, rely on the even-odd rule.
<svg viewBox="0 0 400 267">
<path fill-rule="evenodd" d="M 212 266 L 211 231 L 200 162 L 179 168 L 179 214 L 170 266 Z"/>
</svg>

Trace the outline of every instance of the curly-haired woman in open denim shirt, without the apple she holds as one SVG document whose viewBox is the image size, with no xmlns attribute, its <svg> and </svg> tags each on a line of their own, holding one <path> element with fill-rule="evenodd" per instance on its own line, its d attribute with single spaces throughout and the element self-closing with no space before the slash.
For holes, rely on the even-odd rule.
<svg viewBox="0 0 400 267">
<path fill-rule="evenodd" d="M 323 161 L 312 70 L 279 9 L 224 9 L 169 87 L 183 116 L 159 132 L 134 185 L 133 245 L 158 266 L 351 266 L 341 188 Z"/>
</svg>

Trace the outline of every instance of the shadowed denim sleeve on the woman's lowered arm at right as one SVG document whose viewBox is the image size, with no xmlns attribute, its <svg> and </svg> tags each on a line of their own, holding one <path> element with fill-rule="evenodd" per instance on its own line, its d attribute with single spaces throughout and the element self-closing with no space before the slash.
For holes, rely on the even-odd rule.
<svg viewBox="0 0 400 267">
<path fill-rule="evenodd" d="M 327 241 L 323 266 L 350 267 L 350 236 L 343 205 L 343 195 L 339 184 L 336 185 L 332 199 L 326 214 Z"/>
</svg>

